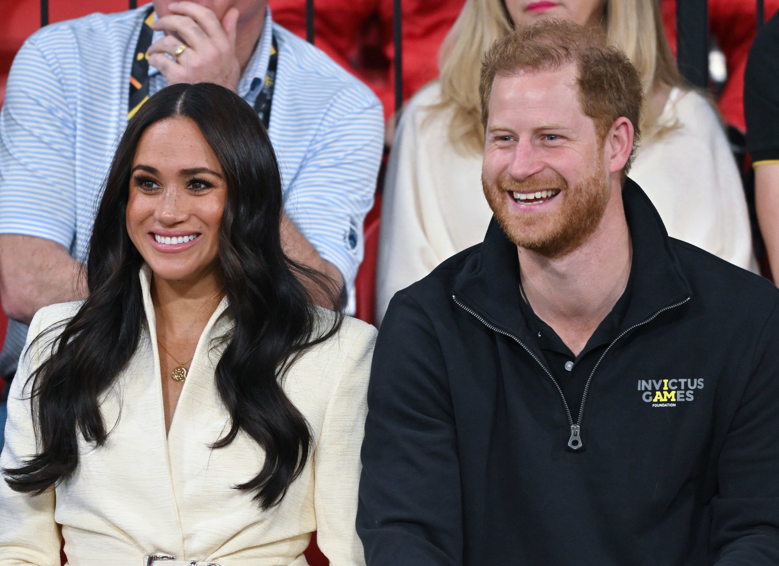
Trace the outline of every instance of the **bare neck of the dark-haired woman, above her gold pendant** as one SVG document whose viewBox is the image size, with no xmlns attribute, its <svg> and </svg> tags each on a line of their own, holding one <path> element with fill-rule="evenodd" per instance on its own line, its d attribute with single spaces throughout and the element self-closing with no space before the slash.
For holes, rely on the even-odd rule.
<svg viewBox="0 0 779 566">
<path fill-rule="evenodd" d="M 192 281 L 152 276 L 151 298 L 157 319 L 157 336 L 163 343 L 197 343 L 211 315 L 224 297 L 216 270 Z M 171 347 L 168 346 L 168 347 Z"/>
</svg>

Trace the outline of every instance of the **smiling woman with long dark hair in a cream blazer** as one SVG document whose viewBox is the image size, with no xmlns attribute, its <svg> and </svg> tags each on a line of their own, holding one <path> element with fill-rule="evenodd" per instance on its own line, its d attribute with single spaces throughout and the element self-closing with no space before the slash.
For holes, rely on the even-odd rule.
<svg viewBox="0 0 779 566">
<path fill-rule="evenodd" d="M 375 329 L 284 255 L 273 148 L 238 95 L 168 86 L 129 122 L 86 301 L 43 308 L 9 397 L 0 564 L 363 564 Z M 304 283 L 305 282 L 305 283 Z M 330 297 L 337 303 L 337 297 Z"/>
</svg>

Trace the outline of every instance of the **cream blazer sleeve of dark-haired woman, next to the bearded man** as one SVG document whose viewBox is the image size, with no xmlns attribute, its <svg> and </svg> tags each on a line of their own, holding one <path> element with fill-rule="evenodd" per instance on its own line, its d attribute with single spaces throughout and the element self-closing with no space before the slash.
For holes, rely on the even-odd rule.
<svg viewBox="0 0 779 566">
<path fill-rule="evenodd" d="M 354 339 L 340 338 L 343 370 L 330 396 L 314 452 L 316 541 L 331 566 L 365 564 L 354 519 L 375 338 L 376 329 L 370 325 L 363 325 Z"/>
</svg>

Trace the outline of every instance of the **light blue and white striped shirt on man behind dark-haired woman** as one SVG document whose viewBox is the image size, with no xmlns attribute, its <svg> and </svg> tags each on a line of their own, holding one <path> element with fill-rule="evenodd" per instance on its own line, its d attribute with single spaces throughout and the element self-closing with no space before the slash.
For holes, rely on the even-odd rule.
<svg viewBox="0 0 779 566">
<path fill-rule="evenodd" d="M 146 9 L 55 23 L 19 50 L 0 112 L 0 234 L 55 241 L 85 261 L 126 125 L 130 67 Z M 273 23 L 269 10 L 238 84 L 249 104 L 265 77 L 271 26 L 279 58 L 269 133 L 284 209 L 340 270 L 353 299 L 362 223 L 382 155 L 381 103 L 322 51 Z M 152 67 L 150 92 L 165 85 Z"/>
</svg>

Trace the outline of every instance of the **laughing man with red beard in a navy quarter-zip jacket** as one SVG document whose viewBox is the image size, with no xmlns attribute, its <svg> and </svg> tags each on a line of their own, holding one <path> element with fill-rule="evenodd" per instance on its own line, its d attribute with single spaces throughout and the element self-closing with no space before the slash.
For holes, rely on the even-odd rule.
<svg viewBox="0 0 779 566">
<path fill-rule="evenodd" d="M 368 566 L 779 564 L 779 290 L 668 237 L 641 93 L 573 23 L 485 55 L 495 218 L 382 322 Z"/>
</svg>

